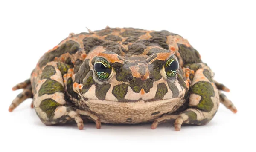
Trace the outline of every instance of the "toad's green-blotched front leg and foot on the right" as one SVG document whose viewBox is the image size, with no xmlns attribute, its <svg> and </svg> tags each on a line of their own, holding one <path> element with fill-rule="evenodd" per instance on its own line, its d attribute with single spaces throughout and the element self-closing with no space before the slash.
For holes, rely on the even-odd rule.
<svg viewBox="0 0 256 152">
<path fill-rule="evenodd" d="M 195 72 L 189 96 L 189 108 L 177 115 L 163 115 L 154 121 L 151 129 L 158 124 L 173 121 L 175 130 L 179 131 L 182 124 L 204 125 L 208 123 L 218 110 L 218 89 L 212 80 L 213 73 L 208 66 Z"/>
</svg>

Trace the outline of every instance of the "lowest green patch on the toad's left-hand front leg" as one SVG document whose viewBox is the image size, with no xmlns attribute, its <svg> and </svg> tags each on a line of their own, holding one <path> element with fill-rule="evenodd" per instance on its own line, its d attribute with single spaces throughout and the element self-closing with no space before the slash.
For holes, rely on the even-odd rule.
<svg viewBox="0 0 256 152">
<path fill-rule="evenodd" d="M 48 118 L 52 118 L 54 116 L 54 111 L 58 106 L 60 106 L 60 104 L 53 99 L 44 99 L 39 105 Z"/>
</svg>

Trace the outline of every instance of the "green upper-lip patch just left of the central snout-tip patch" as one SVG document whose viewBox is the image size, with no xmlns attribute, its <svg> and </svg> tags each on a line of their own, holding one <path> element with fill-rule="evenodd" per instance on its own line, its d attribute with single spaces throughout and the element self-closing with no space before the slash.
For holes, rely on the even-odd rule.
<svg viewBox="0 0 256 152">
<path fill-rule="evenodd" d="M 128 84 L 122 83 L 113 87 L 112 94 L 118 99 L 122 100 L 128 92 Z"/>
</svg>

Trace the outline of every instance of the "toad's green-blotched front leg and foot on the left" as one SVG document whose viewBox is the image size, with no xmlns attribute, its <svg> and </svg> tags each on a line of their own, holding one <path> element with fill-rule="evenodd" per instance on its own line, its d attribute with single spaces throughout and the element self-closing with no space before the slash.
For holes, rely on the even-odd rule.
<svg viewBox="0 0 256 152">
<path fill-rule="evenodd" d="M 61 73 L 63 72 L 58 69 L 56 62 L 47 63 L 37 82 L 34 92 L 34 107 L 41 121 L 46 125 L 54 125 L 74 120 L 78 128 L 83 129 L 84 123 L 80 115 L 85 115 L 96 122 L 96 128 L 100 128 L 101 123 L 97 116 L 69 106 L 70 104 L 64 98 L 64 83 Z"/>
</svg>

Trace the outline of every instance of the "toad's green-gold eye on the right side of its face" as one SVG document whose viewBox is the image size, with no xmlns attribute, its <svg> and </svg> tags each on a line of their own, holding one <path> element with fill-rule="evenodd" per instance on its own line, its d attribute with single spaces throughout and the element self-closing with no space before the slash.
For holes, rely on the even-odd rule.
<svg viewBox="0 0 256 152">
<path fill-rule="evenodd" d="M 166 61 L 164 69 L 166 71 L 167 77 L 175 77 L 179 69 L 179 63 L 177 59 L 174 56 L 170 57 Z"/>
</svg>

